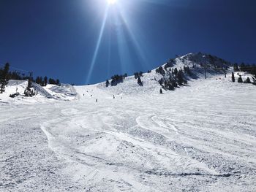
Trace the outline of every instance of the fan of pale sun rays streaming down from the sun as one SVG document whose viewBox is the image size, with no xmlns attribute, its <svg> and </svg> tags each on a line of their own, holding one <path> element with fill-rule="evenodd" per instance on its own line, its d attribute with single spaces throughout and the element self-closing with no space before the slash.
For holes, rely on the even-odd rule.
<svg viewBox="0 0 256 192">
<path fill-rule="evenodd" d="M 99 31 L 99 37 L 97 39 L 97 45 L 94 50 L 94 55 L 91 61 L 91 65 L 89 67 L 89 72 L 86 77 L 86 84 L 88 84 L 91 80 L 91 74 L 94 70 L 94 66 L 97 61 L 97 57 L 99 55 L 99 48 L 102 42 L 103 34 L 105 31 L 106 23 L 108 19 L 113 18 L 113 23 L 116 28 L 116 43 L 118 45 L 118 57 L 120 59 L 120 67 L 121 72 L 125 73 L 131 70 L 134 66 L 133 61 L 138 59 L 139 62 L 136 62 L 136 65 L 140 66 L 140 69 L 146 70 L 149 69 L 146 61 L 146 54 L 143 51 L 143 48 L 146 47 L 145 37 L 140 35 L 139 28 L 135 26 L 135 23 L 132 23 L 129 19 L 129 15 L 127 14 L 127 5 L 124 1 L 117 0 L 107 0 L 107 8 L 105 9 L 105 15 L 102 21 L 102 26 Z M 115 4 L 115 6 L 113 6 Z M 126 8 L 125 8 L 126 7 Z M 129 7 L 129 6 L 128 6 Z M 111 14 L 109 14 L 111 13 Z M 111 33 L 111 32 L 110 32 Z M 111 38 L 111 35 L 108 37 Z M 111 49 L 111 41 L 115 39 L 109 39 L 108 49 Z M 132 46 L 128 46 L 129 42 L 131 42 Z M 134 50 L 131 50 L 134 49 Z M 135 58 L 131 57 L 131 51 L 135 52 Z M 108 67 L 110 67 L 111 60 L 111 50 L 108 50 Z"/>
</svg>

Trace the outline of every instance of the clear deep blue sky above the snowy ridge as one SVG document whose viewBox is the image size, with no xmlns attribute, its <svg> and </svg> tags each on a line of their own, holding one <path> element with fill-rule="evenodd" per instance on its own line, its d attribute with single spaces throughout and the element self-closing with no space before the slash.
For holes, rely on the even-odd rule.
<svg viewBox="0 0 256 192">
<path fill-rule="evenodd" d="M 256 63 L 255 0 L 0 0 L 0 64 L 83 85 L 203 52 Z"/>
</svg>

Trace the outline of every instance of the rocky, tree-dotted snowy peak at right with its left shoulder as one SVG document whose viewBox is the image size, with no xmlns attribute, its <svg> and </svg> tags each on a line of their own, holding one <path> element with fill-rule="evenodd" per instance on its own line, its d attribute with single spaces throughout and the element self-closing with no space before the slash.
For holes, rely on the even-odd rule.
<svg viewBox="0 0 256 192">
<path fill-rule="evenodd" d="M 157 73 L 157 69 L 143 73 L 143 77 L 141 77 L 143 86 L 139 86 L 135 77 L 130 76 L 126 77 L 123 82 L 118 83 L 116 86 L 106 88 L 105 82 L 101 82 L 97 87 L 108 90 L 113 94 L 156 94 L 159 93 L 159 89 L 163 87 L 159 84 L 159 80 L 168 80 L 170 77 L 173 78 L 172 70 L 175 68 L 177 70 L 182 69 L 184 72 L 184 67 L 189 67 L 190 74 L 184 72 L 184 79 L 190 81 L 205 78 L 205 72 L 207 77 L 213 77 L 219 74 L 223 74 L 224 77 L 225 69 L 230 71 L 230 66 L 231 64 L 229 62 L 217 58 L 216 56 L 203 53 L 189 53 L 175 59 L 170 59 L 167 63 L 163 64 L 162 69 L 164 69 L 164 74 Z"/>
</svg>

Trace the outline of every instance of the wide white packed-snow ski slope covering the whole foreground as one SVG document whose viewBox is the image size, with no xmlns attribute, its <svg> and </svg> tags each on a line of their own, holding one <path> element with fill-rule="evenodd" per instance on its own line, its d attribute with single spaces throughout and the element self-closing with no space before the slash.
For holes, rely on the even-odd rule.
<svg viewBox="0 0 256 192">
<path fill-rule="evenodd" d="M 0 100 L 0 191 L 256 191 L 256 87 L 222 76 Z"/>
</svg>

